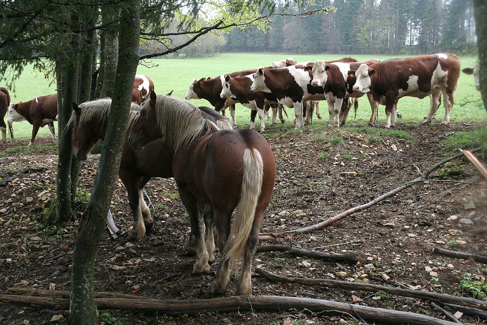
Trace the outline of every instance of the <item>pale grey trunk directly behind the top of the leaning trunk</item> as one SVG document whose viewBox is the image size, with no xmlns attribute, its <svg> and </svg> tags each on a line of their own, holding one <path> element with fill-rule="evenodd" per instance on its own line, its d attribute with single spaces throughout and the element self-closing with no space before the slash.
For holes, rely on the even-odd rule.
<svg viewBox="0 0 487 325">
<path fill-rule="evenodd" d="M 114 21 L 118 17 L 118 5 L 104 5 L 101 8 L 101 16 L 104 24 Z M 103 45 L 104 69 L 103 84 L 100 90 L 100 98 L 112 97 L 115 85 L 115 75 L 118 61 L 118 30 L 109 28 L 105 33 Z M 132 82 L 133 84 L 133 82 Z"/>
</svg>

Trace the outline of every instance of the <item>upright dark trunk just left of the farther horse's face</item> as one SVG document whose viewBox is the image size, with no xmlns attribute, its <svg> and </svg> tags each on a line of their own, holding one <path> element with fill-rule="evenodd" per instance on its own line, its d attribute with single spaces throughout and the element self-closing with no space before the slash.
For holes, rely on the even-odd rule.
<svg viewBox="0 0 487 325">
<path fill-rule="evenodd" d="M 73 42 L 74 44 L 74 42 Z M 77 88 L 77 54 L 73 55 L 72 62 L 56 62 L 60 64 L 58 70 L 64 71 L 61 81 L 62 97 L 57 98 L 61 103 L 61 109 L 57 111 L 57 129 L 59 134 L 58 142 L 58 162 L 57 162 L 57 182 L 56 182 L 56 221 L 63 222 L 69 220 L 73 213 L 71 205 L 71 160 L 73 150 L 73 134 L 65 131 L 66 123 L 72 111 L 72 102 L 76 101 Z"/>
</svg>

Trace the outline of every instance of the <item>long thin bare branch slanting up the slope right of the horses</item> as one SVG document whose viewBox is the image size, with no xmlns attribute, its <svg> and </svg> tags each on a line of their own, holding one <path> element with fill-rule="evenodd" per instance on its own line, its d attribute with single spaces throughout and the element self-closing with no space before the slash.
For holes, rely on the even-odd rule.
<svg viewBox="0 0 487 325">
<path fill-rule="evenodd" d="M 472 150 L 472 153 L 480 151 L 481 149 L 482 148 L 476 148 L 476 149 Z M 324 220 L 318 224 L 308 226 L 308 227 L 304 227 L 304 228 L 295 229 L 295 230 L 288 230 L 288 231 L 282 231 L 282 232 L 260 233 L 259 239 L 275 239 L 276 237 L 279 237 L 279 236 L 309 233 L 309 232 L 313 232 L 313 231 L 316 231 L 319 229 L 323 229 L 323 228 L 330 226 L 331 224 L 333 224 L 333 223 L 337 222 L 338 220 L 341 220 L 341 219 L 343 219 L 343 218 L 345 218 L 351 214 L 354 214 L 356 212 L 360 212 L 362 210 L 368 209 L 368 208 L 374 206 L 375 204 L 379 203 L 380 201 L 383 201 L 383 200 L 399 193 L 400 191 L 403 191 L 407 188 L 412 187 L 412 185 L 416 184 L 417 182 L 421 182 L 421 181 L 424 181 L 425 179 L 428 179 L 428 176 L 430 176 L 430 174 L 432 172 L 434 172 L 435 170 L 437 170 L 438 168 L 440 168 L 442 165 L 446 164 L 447 162 L 449 162 L 453 159 L 459 158 L 459 157 L 463 157 L 463 153 L 457 153 L 457 154 L 455 154 L 455 155 L 453 155 L 447 159 L 444 159 L 444 160 L 436 163 L 428 171 L 424 172 L 422 176 L 413 179 L 411 182 L 403 184 L 403 185 L 393 189 L 392 191 L 389 191 L 385 194 L 382 194 L 382 195 L 376 197 L 374 200 L 372 200 L 370 202 L 358 205 L 352 209 L 341 212 L 341 213 L 339 213 L 339 214 L 337 214 L 337 215 L 335 215 L 329 219 L 326 219 L 326 220 Z"/>
</svg>

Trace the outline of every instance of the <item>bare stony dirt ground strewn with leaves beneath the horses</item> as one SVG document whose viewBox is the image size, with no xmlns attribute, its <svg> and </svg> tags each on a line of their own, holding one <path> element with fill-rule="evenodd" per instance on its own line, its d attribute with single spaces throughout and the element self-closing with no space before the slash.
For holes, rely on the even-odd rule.
<svg viewBox="0 0 487 325">
<path fill-rule="evenodd" d="M 485 124 L 449 127 L 403 123 L 404 133 L 379 134 L 364 128 L 304 129 L 274 133 L 268 141 L 276 156 L 278 173 L 273 200 L 261 232 L 312 225 L 366 203 L 384 191 L 406 183 L 452 151 L 443 141 L 458 131 Z M 49 139 L 35 151 L 16 151 L 27 141 L 9 141 L 0 150 L 0 293 L 8 287 L 69 290 L 71 256 L 77 222 L 46 226 L 42 209 L 56 195 L 55 147 Z M 9 148 L 7 152 L 6 148 Z M 87 200 L 93 185 L 98 155 L 82 163 L 80 199 Z M 340 172 L 356 172 L 355 177 Z M 437 255 L 435 247 L 485 255 L 486 235 L 472 231 L 486 227 L 487 186 L 473 165 L 459 159 L 431 175 L 478 185 L 427 182 L 413 186 L 372 208 L 353 214 L 325 229 L 300 236 L 261 241 L 324 252 L 355 251 L 364 260 L 355 265 L 299 258 L 279 252 L 256 255 L 254 265 L 297 277 L 340 279 L 382 284 L 390 278 L 417 289 L 471 297 L 459 287 L 464 276 L 485 282 L 487 268 L 475 261 Z M 187 213 L 170 179 L 153 179 L 146 187 L 155 223 L 142 240 L 129 243 L 124 234 L 132 225 L 127 194 L 120 181 L 111 210 L 121 229 L 118 239 L 108 232 L 101 239 L 95 271 L 96 291 L 113 291 L 157 299 L 210 298 L 213 273 L 192 275 L 195 261 L 184 251 L 189 233 Z M 82 205 L 79 207 L 82 209 Z M 217 255 L 218 258 L 218 255 Z M 345 273 L 337 273 L 345 272 Z M 236 279 L 226 295 L 235 291 Z M 253 294 L 286 295 L 397 309 L 443 318 L 429 302 L 387 294 L 270 283 L 253 274 Z M 455 313 L 456 310 L 451 310 Z M 55 324 L 62 311 L 2 305 L 0 324 Z M 100 311 L 105 324 L 366 324 L 346 316 L 330 317 L 303 310 L 264 311 L 168 317 L 156 313 Z M 66 313 L 64 314 L 66 316 Z M 463 316 L 464 323 L 476 324 Z M 62 318 L 60 323 L 65 323 Z"/>
</svg>

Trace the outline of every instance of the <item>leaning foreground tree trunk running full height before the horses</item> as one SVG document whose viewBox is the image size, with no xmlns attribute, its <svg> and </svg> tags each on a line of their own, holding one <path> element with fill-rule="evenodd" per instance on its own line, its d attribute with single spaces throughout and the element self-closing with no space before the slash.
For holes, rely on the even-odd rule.
<svg viewBox="0 0 487 325">
<path fill-rule="evenodd" d="M 115 78 L 115 86 L 119 91 L 112 99 L 105 146 L 90 201 L 79 222 L 78 238 L 73 253 L 70 320 L 76 325 L 97 324 L 94 263 L 120 165 L 129 119 L 131 89 L 139 59 L 139 36 L 140 0 L 127 0 L 122 4 L 120 20 L 120 60 Z"/>
</svg>

